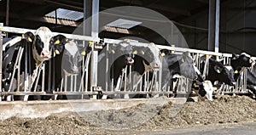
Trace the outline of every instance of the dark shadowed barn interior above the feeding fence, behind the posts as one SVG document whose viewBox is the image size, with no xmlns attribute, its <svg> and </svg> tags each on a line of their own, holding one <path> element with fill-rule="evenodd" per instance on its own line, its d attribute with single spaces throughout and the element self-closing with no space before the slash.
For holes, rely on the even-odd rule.
<svg viewBox="0 0 256 135">
<path fill-rule="evenodd" d="M 86 3 L 88 11 L 86 16 L 89 17 L 91 2 L 87 1 Z M 256 48 L 253 45 L 255 42 L 255 38 L 253 38 L 255 35 L 255 1 L 220 0 L 219 5 L 219 52 L 247 52 L 253 55 L 253 50 Z M 208 29 L 210 21 L 208 14 L 209 7 L 211 7 L 208 0 L 102 0 L 100 1 L 100 12 L 119 6 L 149 8 L 163 14 L 168 20 L 172 20 L 182 32 L 189 48 L 209 50 L 207 48 L 208 32 L 213 30 Z M 57 12 L 58 8 L 78 11 L 82 14 L 84 0 L 1 0 L 0 7 L 0 21 L 4 25 L 13 27 L 37 29 L 44 25 L 52 31 L 73 33 L 84 20 L 83 16 L 68 18 L 72 14 L 67 14 L 67 18 L 61 18 L 59 14 L 56 16 L 46 15 L 50 12 Z M 57 18 L 55 19 L 55 17 Z M 101 17 L 99 20 L 101 23 Z M 103 30 L 99 33 L 99 37 L 138 37 L 148 42 L 170 44 L 160 34 L 143 25 L 136 25 L 128 31 L 129 33 Z M 179 46 L 176 42 L 172 42 L 172 44 Z"/>
</svg>

